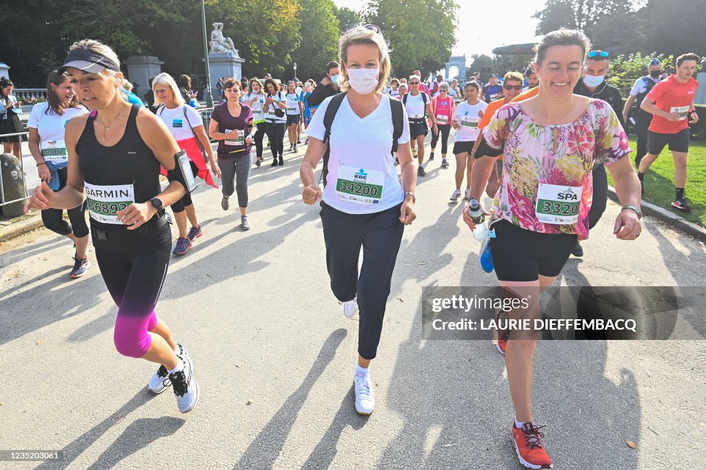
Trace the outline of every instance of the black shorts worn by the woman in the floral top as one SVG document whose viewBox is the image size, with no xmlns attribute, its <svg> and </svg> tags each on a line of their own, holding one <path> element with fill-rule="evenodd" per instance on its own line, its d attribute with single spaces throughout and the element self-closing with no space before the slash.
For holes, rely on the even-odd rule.
<svg viewBox="0 0 706 470">
<path fill-rule="evenodd" d="M 498 280 L 505 281 L 558 276 L 577 240 L 576 235 L 532 232 L 505 220 L 493 223 L 493 229 L 493 264 Z"/>
</svg>

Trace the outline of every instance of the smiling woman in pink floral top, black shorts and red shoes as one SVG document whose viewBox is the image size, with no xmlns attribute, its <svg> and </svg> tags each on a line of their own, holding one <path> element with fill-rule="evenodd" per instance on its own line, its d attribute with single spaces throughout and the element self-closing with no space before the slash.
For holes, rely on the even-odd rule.
<svg viewBox="0 0 706 470">
<path fill-rule="evenodd" d="M 503 106 L 484 130 L 486 148 L 474 163 L 471 198 L 480 199 L 496 159 L 503 155 L 503 182 L 491 209 L 493 264 L 503 292 L 527 308 L 509 319 L 539 318 L 539 297 L 561 272 L 577 237 L 588 237 L 592 167 L 605 163 L 621 201 L 614 234 L 635 240 L 640 225 L 640 183 L 628 155 L 628 139 L 611 106 L 573 94 L 590 40 L 581 31 L 558 30 L 537 46 L 534 70 L 539 94 Z M 463 218 L 475 224 L 465 209 Z M 524 305 L 524 304 L 523 304 Z M 520 462 L 552 468 L 532 416 L 532 358 L 538 333 L 508 330 L 498 316 L 498 350 L 505 354 L 515 406 L 512 437 Z M 508 341 L 508 338 L 510 339 Z"/>
</svg>

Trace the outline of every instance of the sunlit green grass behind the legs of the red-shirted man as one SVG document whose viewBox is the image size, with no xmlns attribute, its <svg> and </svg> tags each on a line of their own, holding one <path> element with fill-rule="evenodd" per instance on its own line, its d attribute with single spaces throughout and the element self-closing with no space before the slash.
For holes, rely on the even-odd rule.
<svg viewBox="0 0 706 470">
<path fill-rule="evenodd" d="M 630 137 L 630 161 L 635 164 L 635 149 L 638 148 L 635 138 Z M 608 173 L 608 183 L 613 186 L 613 178 Z M 691 211 L 683 212 L 674 209 L 674 159 L 671 151 L 664 148 L 659 158 L 652 163 L 645 173 L 646 202 L 664 207 L 686 220 L 706 227 L 706 141 L 692 140 L 689 144 L 688 163 L 686 165 L 686 197 L 691 205 Z"/>
</svg>

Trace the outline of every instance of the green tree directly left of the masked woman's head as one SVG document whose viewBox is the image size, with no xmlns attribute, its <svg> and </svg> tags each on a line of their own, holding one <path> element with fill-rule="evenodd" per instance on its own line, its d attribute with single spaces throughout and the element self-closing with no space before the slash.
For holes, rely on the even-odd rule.
<svg viewBox="0 0 706 470">
<path fill-rule="evenodd" d="M 301 0 L 301 46 L 292 53 L 300 78 L 319 80 L 338 56 L 339 20 L 332 0 Z M 285 77 L 293 77 L 285 73 Z"/>
</svg>

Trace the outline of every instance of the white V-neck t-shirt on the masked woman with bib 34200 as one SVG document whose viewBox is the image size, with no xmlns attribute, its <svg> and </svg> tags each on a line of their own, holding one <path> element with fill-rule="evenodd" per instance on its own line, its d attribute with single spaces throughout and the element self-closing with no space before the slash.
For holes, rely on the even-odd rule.
<svg viewBox="0 0 706 470">
<path fill-rule="evenodd" d="M 332 98 L 323 100 L 311 118 L 306 130 L 310 137 L 323 140 L 326 132 L 323 117 Z M 326 204 L 347 214 L 373 214 L 390 209 L 405 199 L 402 185 L 397 180 L 395 157 L 390 154 L 393 143 L 391 112 L 390 97 L 386 94 L 383 94 L 378 107 L 362 119 L 353 112 L 348 98 L 343 99 L 331 125 L 328 184 L 323 190 Z M 409 122 L 406 119 L 403 121 L 402 137 L 397 140 L 399 144 L 409 142 Z M 363 193 L 376 195 L 379 198 L 377 202 L 351 202 L 348 194 L 338 191 L 345 189 L 342 185 L 348 185 L 347 181 L 355 180 L 360 175 L 368 183 L 363 185 L 364 190 L 369 190 L 371 185 L 376 185 L 378 191 L 381 188 L 382 194 Z"/>
</svg>

